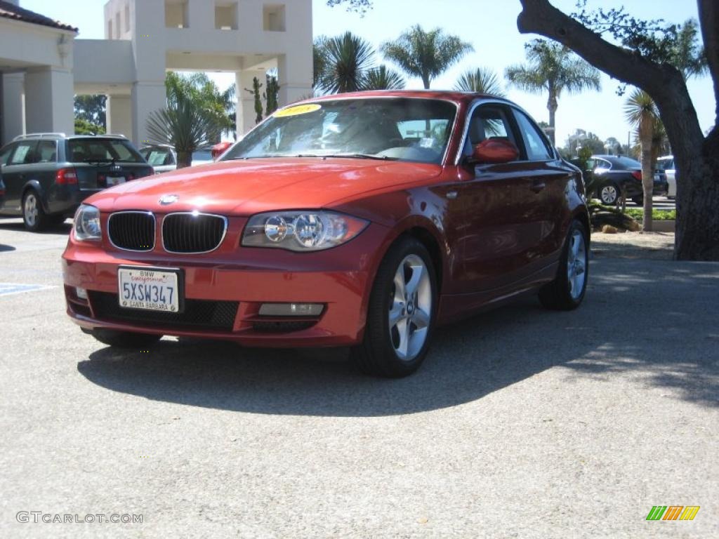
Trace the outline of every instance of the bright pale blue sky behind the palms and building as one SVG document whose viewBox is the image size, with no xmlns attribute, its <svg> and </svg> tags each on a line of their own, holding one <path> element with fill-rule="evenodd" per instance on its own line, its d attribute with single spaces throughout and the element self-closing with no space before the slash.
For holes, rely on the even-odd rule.
<svg viewBox="0 0 719 539">
<path fill-rule="evenodd" d="M 141 0 L 140 0 L 141 1 Z M 287 0 L 292 1 L 292 0 Z M 554 0 L 564 11 L 572 11 L 576 0 Z M 669 22 L 684 22 L 697 17 L 695 0 L 631 0 L 623 2 L 638 17 L 662 18 Z M 73 24 L 80 29 L 79 39 L 99 39 L 103 34 L 103 6 L 105 0 L 20 0 L 33 11 Z M 618 6 L 620 0 L 590 0 L 590 6 Z M 407 27 L 421 24 L 426 29 L 441 27 L 471 42 L 475 52 L 447 71 L 432 84 L 432 88 L 452 88 L 462 71 L 485 66 L 503 75 L 511 64 L 524 60 L 524 43 L 533 36 L 519 34 L 516 17 L 521 9 L 518 0 L 375 0 L 375 9 L 362 18 L 347 13 L 342 7 L 329 8 L 325 0 L 313 0 L 313 32 L 315 35 L 336 35 L 350 30 L 362 35 L 375 47 L 397 37 Z M 382 58 L 377 57 L 377 63 Z M 214 75 L 220 86 L 234 80 L 229 75 Z M 408 88 L 421 88 L 420 80 L 408 80 Z M 577 96 L 565 94 L 557 111 L 557 144 L 574 129 L 595 132 L 600 138 L 616 137 L 626 141 L 629 127 L 623 118 L 623 101 L 615 91 L 617 83 L 603 75 L 600 92 Z M 690 81 L 690 93 L 697 108 L 700 124 L 707 130 L 714 124 L 715 101 L 708 77 Z M 508 89 L 508 96 L 527 109 L 538 121 L 546 121 L 546 96 Z"/>
</svg>

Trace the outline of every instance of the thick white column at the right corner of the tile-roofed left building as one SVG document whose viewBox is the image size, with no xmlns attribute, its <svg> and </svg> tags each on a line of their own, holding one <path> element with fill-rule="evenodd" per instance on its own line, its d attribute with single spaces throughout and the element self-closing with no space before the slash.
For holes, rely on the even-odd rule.
<svg viewBox="0 0 719 539">
<path fill-rule="evenodd" d="M 25 124 L 28 133 L 75 134 L 73 74 L 45 68 L 25 74 Z"/>
</svg>

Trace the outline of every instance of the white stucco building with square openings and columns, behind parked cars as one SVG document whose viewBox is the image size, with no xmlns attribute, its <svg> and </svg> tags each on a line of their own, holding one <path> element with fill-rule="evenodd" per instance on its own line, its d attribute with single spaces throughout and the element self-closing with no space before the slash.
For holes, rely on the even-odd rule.
<svg viewBox="0 0 719 539">
<path fill-rule="evenodd" d="M 13 5 L 14 4 L 14 5 Z M 280 105 L 311 93 L 311 0 L 109 0 L 104 40 L 0 0 L 0 139 L 73 132 L 73 94 L 108 96 L 108 132 L 135 144 L 165 106 L 165 72 L 234 73 L 238 132 L 255 124 L 252 78 L 278 69 Z"/>
</svg>

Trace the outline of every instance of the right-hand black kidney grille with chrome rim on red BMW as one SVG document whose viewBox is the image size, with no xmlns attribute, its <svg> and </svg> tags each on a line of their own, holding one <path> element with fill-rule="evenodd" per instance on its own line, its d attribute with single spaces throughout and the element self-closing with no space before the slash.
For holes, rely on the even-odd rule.
<svg viewBox="0 0 719 539">
<path fill-rule="evenodd" d="M 208 213 L 169 213 L 162 219 L 162 244 L 170 253 L 205 253 L 222 243 L 227 219 Z"/>
</svg>

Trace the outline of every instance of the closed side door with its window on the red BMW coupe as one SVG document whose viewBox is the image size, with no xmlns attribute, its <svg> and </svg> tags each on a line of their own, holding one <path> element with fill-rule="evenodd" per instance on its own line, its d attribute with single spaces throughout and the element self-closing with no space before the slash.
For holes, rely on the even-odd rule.
<svg viewBox="0 0 719 539">
<path fill-rule="evenodd" d="M 471 113 L 464 159 L 491 138 L 506 138 L 523 152 L 510 107 L 485 103 Z M 477 163 L 470 179 L 447 185 L 448 231 L 452 236 L 453 290 L 448 293 L 500 289 L 521 279 L 533 238 L 534 165 L 520 158 L 502 164 Z"/>
</svg>

